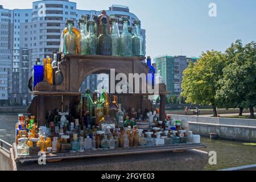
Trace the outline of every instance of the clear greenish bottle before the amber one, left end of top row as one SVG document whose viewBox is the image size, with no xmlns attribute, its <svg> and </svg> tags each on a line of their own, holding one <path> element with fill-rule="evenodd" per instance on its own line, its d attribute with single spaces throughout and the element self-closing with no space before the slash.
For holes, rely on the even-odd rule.
<svg viewBox="0 0 256 182">
<path fill-rule="evenodd" d="M 73 20 L 68 19 L 66 24 L 68 32 L 64 35 L 64 55 L 75 55 L 77 46 L 77 36 L 73 32 L 74 22 Z"/>
</svg>

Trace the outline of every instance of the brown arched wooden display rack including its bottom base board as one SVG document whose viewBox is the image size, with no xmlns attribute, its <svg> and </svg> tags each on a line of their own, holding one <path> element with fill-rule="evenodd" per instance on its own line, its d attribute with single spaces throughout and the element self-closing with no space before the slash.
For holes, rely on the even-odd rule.
<svg viewBox="0 0 256 182">
<path fill-rule="evenodd" d="M 117 56 L 100 56 L 100 55 L 69 55 L 63 56 L 59 65 L 63 73 L 64 81 L 61 85 L 49 85 L 46 80 L 38 84 L 36 92 L 32 92 L 35 96 L 27 112 L 35 115 L 38 126 L 46 124 L 46 114 L 48 110 L 71 109 L 72 115 L 75 114 L 75 105 L 80 102 L 81 92 L 80 86 L 85 78 L 91 74 L 107 73 L 110 69 L 115 69 L 115 73 L 125 73 L 129 78 L 129 73 L 148 73 L 148 66 L 142 61 L 145 57 L 117 57 Z M 160 95 L 160 120 L 165 121 L 166 111 L 166 95 L 170 92 L 166 91 L 165 84 L 159 84 Z M 153 111 L 154 107 L 147 96 L 150 94 L 117 94 L 121 101 L 122 107 L 127 111 L 134 108 L 141 109 L 142 113 Z M 118 156 L 131 154 L 146 154 L 167 151 L 180 151 L 192 148 L 204 148 L 204 144 L 174 144 L 171 146 L 154 146 L 154 147 L 131 147 L 117 148 L 115 150 L 97 150 L 85 152 L 69 152 L 47 154 L 47 159 L 74 159 L 74 158 L 93 158 L 103 156 Z M 14 154 L 16 162 L 37 161 L 38 156 L 17 156 L 16 144 L 14 143 Z"/>
</svg>

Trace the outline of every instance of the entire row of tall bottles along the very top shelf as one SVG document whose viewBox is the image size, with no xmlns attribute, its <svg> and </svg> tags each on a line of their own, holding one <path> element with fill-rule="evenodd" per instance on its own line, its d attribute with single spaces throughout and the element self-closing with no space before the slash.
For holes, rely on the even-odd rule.
<svg viewBox="0 0 256 182">
<path fill-rule="evenodd" d="M 128 23 L 129 19 L 123 16 L 120 34 L 118 19 L 106 15 L 105 11 L 99 16 L 82 15 L 80 30 L 74 27 L 73 19 L 68 19 L 61 35 L 60 52 L 64 55 L 145 56 L 141 22 L 134 20 L 134 35 Z"/>
</svg>

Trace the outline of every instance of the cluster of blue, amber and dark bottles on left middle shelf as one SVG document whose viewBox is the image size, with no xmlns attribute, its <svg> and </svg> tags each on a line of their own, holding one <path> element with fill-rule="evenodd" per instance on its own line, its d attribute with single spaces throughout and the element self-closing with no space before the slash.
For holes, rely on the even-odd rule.
<svg viewBox="0 0 256 182">
<path fill-rule="evenodd" d="M 61 61 L 61 53 L 53 52 L 52 59 L 47 57 L 43 60 L 36 59 L 36 65 L 32 71 L 32 77 L 28 81 L 28 88 L 31 91 L 37 91 L 36 85 L 44 79 L 50 85 L 60 85 L 63 82 L 63 74 L 60 71 L 59 64 Z"/>
</svg>

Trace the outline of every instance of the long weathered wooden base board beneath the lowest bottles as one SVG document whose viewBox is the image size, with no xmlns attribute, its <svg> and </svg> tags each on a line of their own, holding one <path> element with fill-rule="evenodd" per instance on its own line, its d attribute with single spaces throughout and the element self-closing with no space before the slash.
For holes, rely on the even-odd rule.
<svg viewBox="0 0 256 182">
<path fill-rule="evenodd" d="M 130 148 L 117 148 L 115 150 L 96 150 L 85 152 L 67 152 L 67 153 L 49 153 L 46 154 L 47 160 L 59 160 L 59 159 L 80 159 L 80 158 L 95 158 L 104 156 L 121 156 L 121 155 L 133 155 L 133 154 L 152 154 L 159 152 L 172 152 L 183 151 L 189 149 L 206 148 L 205 144 L 172 144 L 165 146 L 144 146 L 144 147 L 130 147 Z M 13 144 L 14 158 L 16 162 L 36 162 L 39 156 L 17 156 L 16 143 Z M 170 154 L 171 155 L 171 154 Z"/>
</svg>

